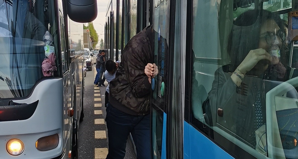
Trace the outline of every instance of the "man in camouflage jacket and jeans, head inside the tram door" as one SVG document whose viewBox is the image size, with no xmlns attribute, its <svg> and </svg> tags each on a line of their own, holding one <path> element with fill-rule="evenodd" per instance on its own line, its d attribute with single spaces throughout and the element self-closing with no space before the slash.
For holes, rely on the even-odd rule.
<svg viewBox="0 0 298 159">
<path fill-rule="evenodd" d="M 138 159 L 151 159 L 150 88 L 158 74 L 152 61 L 153 28 L 135 35 L 121 54 L 116 77 L 110 82 L 107 104 L 109 152 L 107 159 L 123 159 L 126 140 L 132 134 Z"/>
</svg>

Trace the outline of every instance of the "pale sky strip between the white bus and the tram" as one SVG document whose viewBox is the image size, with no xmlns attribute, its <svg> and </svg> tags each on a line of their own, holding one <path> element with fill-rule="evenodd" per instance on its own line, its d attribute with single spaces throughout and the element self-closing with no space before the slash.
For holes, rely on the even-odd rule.
<svg viewBox="0 0 298 159">
<path fill-rule="evenodd" d="M 93 21 L 94 29 L 98 34 L 98 44 L 100 39 L 105 40 L 105 14 L 110 0 L 97 0 L 97 17 Z"/>
</svg>

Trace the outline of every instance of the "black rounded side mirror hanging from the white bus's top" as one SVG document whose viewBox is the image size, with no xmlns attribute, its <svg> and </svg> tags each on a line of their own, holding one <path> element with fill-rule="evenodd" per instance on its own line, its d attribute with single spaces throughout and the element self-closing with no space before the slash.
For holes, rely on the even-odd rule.
<svg viewBox="0 0 298 159">
<path fill-rule="evenodd" d="M 88 23 L 97 17 L 97 0 L 66 0 L 67 13 L 71 20 Z"/>
</svg>

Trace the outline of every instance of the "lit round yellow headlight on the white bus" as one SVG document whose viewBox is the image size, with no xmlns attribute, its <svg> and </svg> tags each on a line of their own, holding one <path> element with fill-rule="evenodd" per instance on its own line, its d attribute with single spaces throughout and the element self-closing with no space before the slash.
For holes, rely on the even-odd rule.
<svg viewBox="0 0 298 159">
<path fill-rule="evenodd" d="M 24 143 L 16 138 L 10 139 L 6 144 L 6 150 L 10 155 L 20 155 L 24 151 Z"/>
</svg>

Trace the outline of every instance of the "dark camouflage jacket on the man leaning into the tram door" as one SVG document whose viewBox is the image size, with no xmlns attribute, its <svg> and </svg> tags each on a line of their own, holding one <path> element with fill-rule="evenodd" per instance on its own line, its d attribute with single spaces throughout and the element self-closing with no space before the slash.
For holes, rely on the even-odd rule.
<svg viewBox="0 0 298 159">
<path fill-rule="evenodd" d="M 152 61 L 152 39 L 152 26 L 146 27 L 131 38 L 121 54 L 116 77 L 110 82 L 109 102 L 124 113 L 150 113 L 151 84 L 144 70 Z"/>
</svg>

